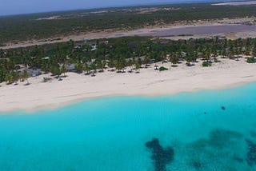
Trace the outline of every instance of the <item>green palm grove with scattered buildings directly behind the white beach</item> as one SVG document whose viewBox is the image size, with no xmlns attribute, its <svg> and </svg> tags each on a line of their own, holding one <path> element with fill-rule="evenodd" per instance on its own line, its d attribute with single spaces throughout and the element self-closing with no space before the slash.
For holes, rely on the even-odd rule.
<svg viewBox="0 0 256 171">
<path fill-rule="evenodd" d="M 78 74 L 104 72 L 114 69 L 118 73 L 130 69 L 139 72 L 154 62 L 186 61 L 192 66 L 198 59 L 210 66 L 217 57 L 238 59 L 240 55 L 256 57 L 256 39 L 227 40 L 219 38 L 164 40 L 142 37 L 110 38 L 90 42 L 62 42 L 44 46 L 0 50 L 0 82 L 11 84 L 25 81 L 30 71 L 60 76 L 68 70 Z M 74 66 L 73 68 L 70 66 Z M 162 68 L 163 69 L 163 68 Z M 156 67 L 158 70 L 158 67 Z M 106 71 L 106 70 L 105 70 Z"/>
</svg>

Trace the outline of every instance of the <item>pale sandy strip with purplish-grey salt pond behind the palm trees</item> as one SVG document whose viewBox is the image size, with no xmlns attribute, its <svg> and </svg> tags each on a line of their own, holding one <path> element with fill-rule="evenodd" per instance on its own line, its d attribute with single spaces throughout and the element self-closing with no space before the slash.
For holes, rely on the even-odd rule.
<svg viewBox="0 0 256 171">
<path fill-rule="evenodd" d="M 199 20 L 187 22 L 177 22 L 170 25 L 148 26 L 135 30 L 101 30 L 90 31 L 80 34 L 70 34 L 51 39 L 31 40 L 25 42 L 6 43 L 6 46 L 0 46 L 0 49 L 12 49 L 27 46 L 41 46 L 51 43 L 83 41 L 99 38 L 118 38 L 126 36 L 150 36 L 167 39 L 190 39 L 190 38 L 213 38 L 225 37 L 228 39 L 236 38 L 256 38 L 256 18 L 224 18 L 221 20 Z"/>
</svg>

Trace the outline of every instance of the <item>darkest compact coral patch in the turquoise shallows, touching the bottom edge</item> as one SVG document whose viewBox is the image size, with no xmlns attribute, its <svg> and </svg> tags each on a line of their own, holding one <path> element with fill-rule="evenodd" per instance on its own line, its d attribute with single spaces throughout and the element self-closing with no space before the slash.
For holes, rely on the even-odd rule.
<svg viewBox="0 0 256 171">
<path fill-rule="evenodd" d="M 151 159 L 154 161 L 155 171 L 165 171 L 166 165 L 174 160 L 174 149 L 167 147 L 163 149 L 158 138 L 146 142 L 146 147 L 151 150 Z"/>
</svg>

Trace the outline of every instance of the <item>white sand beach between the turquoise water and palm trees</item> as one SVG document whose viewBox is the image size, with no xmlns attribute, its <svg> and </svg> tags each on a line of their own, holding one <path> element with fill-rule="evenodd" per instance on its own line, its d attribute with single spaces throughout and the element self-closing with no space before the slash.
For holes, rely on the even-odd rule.
<svg viewBox="0 0 256 171">
<path fill-rule="evenodd" d="M 221 61 L 206 68 L 202 67 L 202 62 L 190 67 L 185 62 L 178 67 L 170 63 L 159 63 L 158 66 L 166 66 L 169 70 L 159 72 L 151 65 L 148 69 L 141 69 L 139 74 L 105 71 L 91 77 L 67 73 L 68 77 L 62 81 L 54 78 L 50 82 L 42 82 L 43 78 L 50 77 L 45 74 L 29 78 L 30 85 L 25 85 L 26 82 L 18 82 L 18 85 L 1 83 L 0 112 L 48 109 L 92 97 L 155 96 L 201 89 L 223 89 L 256 81 L 256 64 L 246 63 L 245 58 L 240 61 Z"/>
</svg>

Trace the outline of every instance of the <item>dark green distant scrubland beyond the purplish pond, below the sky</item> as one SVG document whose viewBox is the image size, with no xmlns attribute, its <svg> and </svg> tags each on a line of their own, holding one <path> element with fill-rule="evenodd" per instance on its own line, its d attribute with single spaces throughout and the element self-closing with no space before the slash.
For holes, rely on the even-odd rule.
<svg viewBox="0 0 256 171">
<path fill-rule="evenodd" d="M 53 16 L 58 19 L 49 19 Z M 0 46 L 6 42 L 57 38 L 90 30 L 130 30 L 179 21 L 247 16 L 256 16 L 255 6 L 179 4 L 9 16 L 0 18 Z"/>
</svg>

